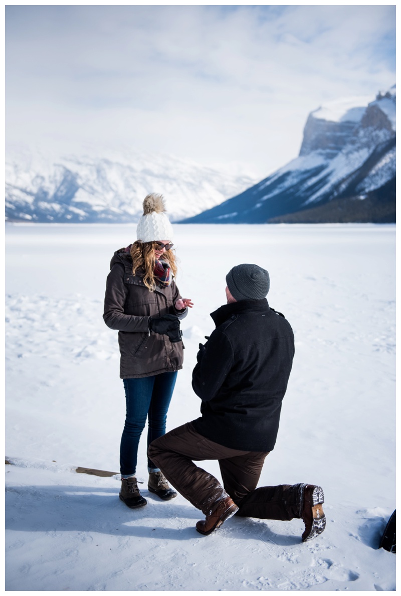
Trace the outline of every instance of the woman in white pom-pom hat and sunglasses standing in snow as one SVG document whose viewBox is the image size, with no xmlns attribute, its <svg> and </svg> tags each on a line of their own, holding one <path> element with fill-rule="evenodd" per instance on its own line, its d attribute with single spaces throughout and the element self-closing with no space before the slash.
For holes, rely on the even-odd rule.
<svg viewBox="0 0 401 596">
<path fill-rule="evenodd" d="M 173 228 L 163 197 L 148 194 L 137 240 L 117 250 L 107 277 L 104 321 L 119 331 L 120 378 L 126 396 L 126 419 L 120 445 L 120 499 L 128 507 L 147 504 L 138 489 L 139 439 L 148 418 L 148 445 L 166 433 L 167 410 L 177 371 L 184 359 L 179 319 L 192 301 L 182 298 L 173 277 L 177 265 Z M 161 471 L 148 459 L 148 489 L 161 499 L 174 498 Z"/>
</svg>

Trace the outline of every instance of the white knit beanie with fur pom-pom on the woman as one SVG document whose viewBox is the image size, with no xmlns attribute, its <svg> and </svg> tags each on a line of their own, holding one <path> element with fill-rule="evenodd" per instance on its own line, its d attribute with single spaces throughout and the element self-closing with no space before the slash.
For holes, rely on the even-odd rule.
<svg viewBox="0 0 401 596">
<path fill-rule="evenodd" d="M 172 240 L 174 232 L 166 215 L 163 195 L 151 193 L 144 198 L 144 215 L 136 226 L 136 240 L 153 242 Z"/>
</svg>

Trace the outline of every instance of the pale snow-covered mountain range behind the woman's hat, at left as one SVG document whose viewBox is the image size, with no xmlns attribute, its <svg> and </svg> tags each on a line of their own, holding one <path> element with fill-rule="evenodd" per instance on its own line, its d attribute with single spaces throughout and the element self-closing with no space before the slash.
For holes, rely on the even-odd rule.
<svg viewBox="0 0 401 596">
<path fill-rule="evenodd" d="M 196 163 L 156 154 L 48 159 L 10 148 L 6 221 L 136 222 L 150 192 L 164 195 L 172 221 L 200 213 L 253 184 Z"/>
</svg>

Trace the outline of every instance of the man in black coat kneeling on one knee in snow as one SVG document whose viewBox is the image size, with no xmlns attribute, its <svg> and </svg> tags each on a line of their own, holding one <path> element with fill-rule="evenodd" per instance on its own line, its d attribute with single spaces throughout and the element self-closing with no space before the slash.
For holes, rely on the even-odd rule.
<svg viewBox="0 0 401 596">
<path fill-rule="evenodd" d="M 192 387 L 201 417 L 151 443 L 148 455 L 205 520 L 210 534 L 235 513 L 243 517 L 303 519 L 302 541 L 325 528 L 320 486 L 256 488 L 278 432 L 281 402 L 294 357 L 294 334 L 269 308 L 269 273 L 237 265 L 226 276 L 227 304 L 212 313 L 216 329 L 200 344 Z M 223 486 L 194 461 L 218 460 Z M 223 488 L 224 487 L 224 488 Z"/>
</svg>

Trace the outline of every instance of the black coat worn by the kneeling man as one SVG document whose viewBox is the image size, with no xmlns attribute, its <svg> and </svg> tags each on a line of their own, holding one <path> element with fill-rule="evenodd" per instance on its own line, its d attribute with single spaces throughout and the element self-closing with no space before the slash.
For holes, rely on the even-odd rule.
<svg viewBox="0 0 401 596">
<path fill-rule="evenodd" d="M 241 451 L 272 451 L 294 357 L 291 325 L 268 301 L 241 300 L 213 312 L 216 329 L 200 344 L 192 387 L 207 439 Z"/>
</svg>

